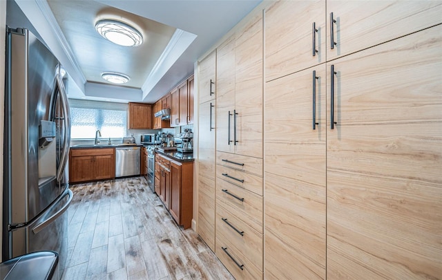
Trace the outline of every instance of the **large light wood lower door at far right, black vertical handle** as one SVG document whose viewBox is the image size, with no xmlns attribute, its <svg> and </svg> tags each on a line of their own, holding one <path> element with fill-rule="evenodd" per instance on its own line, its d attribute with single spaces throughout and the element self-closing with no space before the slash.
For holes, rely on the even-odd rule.
<svg viewBox="0 0 442 280">
<path fill-rule="evenodd" d="M 327 279 L 442 275 L 441 35 L 435 26 L 328 65 Z"/>
</svg>

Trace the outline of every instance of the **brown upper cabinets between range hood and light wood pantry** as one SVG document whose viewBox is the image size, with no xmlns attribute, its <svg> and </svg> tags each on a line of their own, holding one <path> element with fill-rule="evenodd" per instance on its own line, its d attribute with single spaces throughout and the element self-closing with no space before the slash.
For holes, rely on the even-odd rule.
<svg viewBox="0 0 442 280">
<path fill-rule="evenodd" d="M 171 91 L 171 127 L 186 124 L 193 124 L 193 75 Z"/>
</svg>

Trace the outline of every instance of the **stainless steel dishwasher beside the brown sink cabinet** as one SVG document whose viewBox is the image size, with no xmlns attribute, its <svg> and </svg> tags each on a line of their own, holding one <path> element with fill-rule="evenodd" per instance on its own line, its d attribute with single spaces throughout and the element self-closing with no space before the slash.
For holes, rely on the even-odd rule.
<svg viewBox="0 0 442 280">
<path fill-rule="evenodd" d="M 140 147 L 115 148 L 115 177 L 140 175 Z"/>
</svg>

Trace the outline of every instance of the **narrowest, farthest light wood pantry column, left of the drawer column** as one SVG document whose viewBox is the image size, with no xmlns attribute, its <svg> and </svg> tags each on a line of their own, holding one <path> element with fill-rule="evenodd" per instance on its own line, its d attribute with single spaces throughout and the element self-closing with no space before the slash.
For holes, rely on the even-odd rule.
<svg viewBox="0 0 442 280">
<path fill-rule="evenodd" d="M 215 251 L 216 50 L 201 60 L 199 68 L 197 232 Z"/>
</svg>

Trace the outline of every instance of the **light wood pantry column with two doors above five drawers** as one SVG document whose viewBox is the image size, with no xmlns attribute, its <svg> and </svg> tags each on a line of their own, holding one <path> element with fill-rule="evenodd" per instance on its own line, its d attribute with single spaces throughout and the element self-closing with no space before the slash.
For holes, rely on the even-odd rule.
<svg viewBox="0 0 442 280">
<path fill-rule="evenodd" d="M 217 48 L 215 254 L 236 279 L 262 279 L 262 12 Z"/>
</svg>

